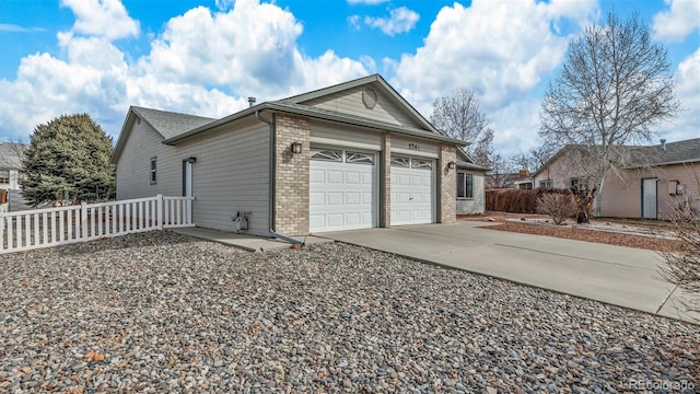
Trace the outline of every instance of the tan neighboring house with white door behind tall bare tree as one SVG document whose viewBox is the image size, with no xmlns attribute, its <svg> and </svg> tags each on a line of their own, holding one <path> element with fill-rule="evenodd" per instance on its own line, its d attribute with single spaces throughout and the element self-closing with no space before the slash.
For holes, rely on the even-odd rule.
<svg viewBox="0 0 700 394">
<path fill-rule="evenodd" d="M 568 146 L 533 174 L 535 187 L 571 188 L 586 193 L 593 184 L 585 149 Z M 651 147 L 622 147 L 606 174 L 600 216 L 668 219 L 674 208 L 690 205 L 700 211 L 700 138 Z"/>
</svg>

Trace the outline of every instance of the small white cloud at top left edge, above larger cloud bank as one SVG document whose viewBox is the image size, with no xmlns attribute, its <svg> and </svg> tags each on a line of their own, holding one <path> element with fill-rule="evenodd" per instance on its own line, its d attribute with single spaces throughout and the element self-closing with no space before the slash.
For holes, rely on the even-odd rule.
<svg viewBox="0 0 700 394">
<path fill-rule="evenodd" d="M 138 36 L 139 23 L 132 20 L 120 0 L 61 0 L 75 14 L 71 32 L 107 39 Z"/>
</svg>

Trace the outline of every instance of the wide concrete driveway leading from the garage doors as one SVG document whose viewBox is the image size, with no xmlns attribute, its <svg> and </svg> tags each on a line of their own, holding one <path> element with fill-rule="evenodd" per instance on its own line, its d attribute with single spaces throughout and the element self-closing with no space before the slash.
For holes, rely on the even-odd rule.
<svg viewBox="0 0 700 394">
<path fill-rule="evenodd" d="M 481 222 L 353 230 L 319 236 L 423 262 L 691 321 L 680 289 L 663 281 L 654 252 L 488 230 Z"/>
</svg>

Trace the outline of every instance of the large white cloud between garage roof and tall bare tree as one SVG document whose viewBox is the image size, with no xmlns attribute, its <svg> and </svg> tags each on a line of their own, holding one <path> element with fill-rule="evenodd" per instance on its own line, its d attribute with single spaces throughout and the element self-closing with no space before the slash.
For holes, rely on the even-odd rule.
<svg viewBox="0 0 700 394">
<path fill-rule="evenodd" d="M 580 28 L 596 14 L 594 0 L 474 0 L 468 8 L 444 7 L 424 45 L 394 63 L 395 84 L 425 116 L 436 97 L 469 88 L 494 126 L 497 150 L 505 141 L 527 144 L 537 138 L 537 124 L 506 125 L 502 116 L 517 113 L 509 105 L 530 108 L 529 92 L 561 63 L 570 37 L 555 26 Z"/>
</svg>

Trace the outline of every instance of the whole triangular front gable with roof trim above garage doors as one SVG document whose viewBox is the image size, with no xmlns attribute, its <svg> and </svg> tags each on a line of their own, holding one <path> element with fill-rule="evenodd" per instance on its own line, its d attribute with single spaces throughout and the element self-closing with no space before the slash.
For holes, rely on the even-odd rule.
<svg viewBox="0 0 700 394">
<path fill-rule="evenodd" d="M 305 105 L 320 111 L 440 134 L 378 74 L 282 99 L 278 102 Z"/>
</svg>

